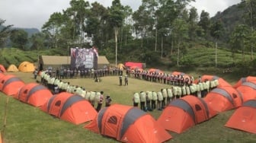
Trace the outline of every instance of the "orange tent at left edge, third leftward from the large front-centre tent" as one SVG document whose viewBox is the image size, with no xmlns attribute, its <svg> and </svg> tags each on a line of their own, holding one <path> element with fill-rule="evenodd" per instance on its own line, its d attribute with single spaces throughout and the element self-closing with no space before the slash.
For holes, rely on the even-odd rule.
<svg viewBox="0 0 256 143">
<path fill-rule="evenodd" d="M 24 86 L 24 81 L 15 75 L 5 75 L 0 79 L 0 91 L 6 95 L 17 94 L 19 89 Z"/>
</svg>

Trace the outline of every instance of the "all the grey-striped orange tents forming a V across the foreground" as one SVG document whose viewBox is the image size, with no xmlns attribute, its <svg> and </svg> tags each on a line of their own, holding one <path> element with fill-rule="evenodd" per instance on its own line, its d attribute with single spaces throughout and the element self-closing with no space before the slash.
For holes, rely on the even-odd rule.
<svg viewBox="0 0 256 143">
<path fill-rule="evenodd" d="M 227 110 L 235 110 L 226 127 L 256 133 L 256 77 L 241 78 L 234 86 L 213 75 L 202 81 L 219 85 L 199 98 L 187 95 L 171 101 L 158 119 L 137 107 L 113 104 L 99 113 L 84 98 L 62 92 L 52 94 L 37 83 L 25 84 L 14 75 L 0 72 L 0 91 L 23 103 L 39 107 L 45 113 L 122 142 L 164 142 L 172 138 L 168 131 L 182 133 Z"/>
</svg>

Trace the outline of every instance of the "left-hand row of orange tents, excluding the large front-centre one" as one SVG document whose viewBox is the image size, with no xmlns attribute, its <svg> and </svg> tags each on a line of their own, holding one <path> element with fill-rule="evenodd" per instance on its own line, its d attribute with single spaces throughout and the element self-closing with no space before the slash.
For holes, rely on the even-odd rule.
<svg viewBox="0 0 256 143">
<path fill-rule="evenodd" d="M 37 83 L 25 84 L 15 75 L 4 75 L 0 72 L 0 91 L 74 124 L 91 121 L 97 115 L 91 103 L 81 96 L 66 92 L 53 95 L 45 86 Z"/>
</svg>

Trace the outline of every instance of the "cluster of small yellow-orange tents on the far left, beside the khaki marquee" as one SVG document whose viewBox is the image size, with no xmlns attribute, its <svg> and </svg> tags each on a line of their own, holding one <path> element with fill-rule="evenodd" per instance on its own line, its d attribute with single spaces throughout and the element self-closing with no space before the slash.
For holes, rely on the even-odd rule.
<svg viewBox="0 0 256 143">
<path fill-rule="evenodd" d="M 21 62 L 21 64 L 18 66 L 11 64 L 8 66 L 8 68 L 5 68 L 4 65 L 0 65 L 0 72 L 17 72 L 17 71 L 21 71 L 21 72 L 32 72 L 35 70 L 35 65 L 32 62 Z"/>
</svg>

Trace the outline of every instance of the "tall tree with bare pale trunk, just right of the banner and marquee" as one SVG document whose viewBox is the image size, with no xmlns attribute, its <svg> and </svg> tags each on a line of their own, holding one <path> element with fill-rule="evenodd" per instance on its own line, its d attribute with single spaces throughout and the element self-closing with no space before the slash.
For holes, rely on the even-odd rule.
<svg viewBox="0 0 256 143">
<path fill-rule="evenodd" d="M 116 43 L 116 66 L 117 66 L 117 37 L 120 27 L 123 25 L 123 5 L 121 5 L 120 0 L 114 0 L 110 7 L 109 23 L 114 28 L 114 36 Z"/>
</svg>

